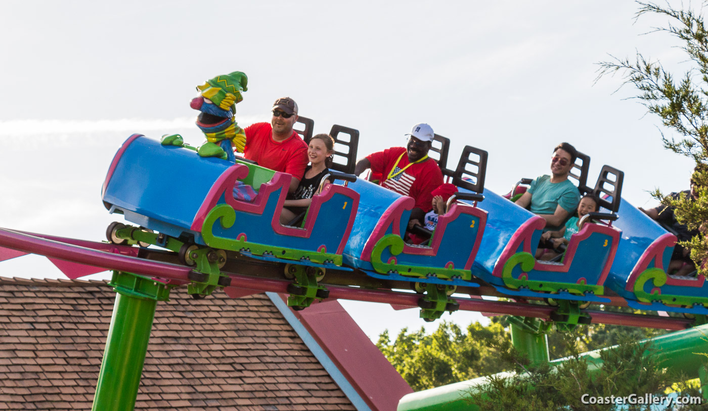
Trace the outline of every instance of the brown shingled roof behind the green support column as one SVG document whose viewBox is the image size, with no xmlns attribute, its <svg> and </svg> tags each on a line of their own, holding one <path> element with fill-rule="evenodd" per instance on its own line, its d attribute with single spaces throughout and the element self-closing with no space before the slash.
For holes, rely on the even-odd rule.
<svg viewBox="0 0 708 411">
<path fill-rule="evenodd" d="M 0 410 L 90 410 L 115 292 L 0 277 Z M 355 410 L 265 294 L 158 303 L 136 410 Z"/>
</svg>

